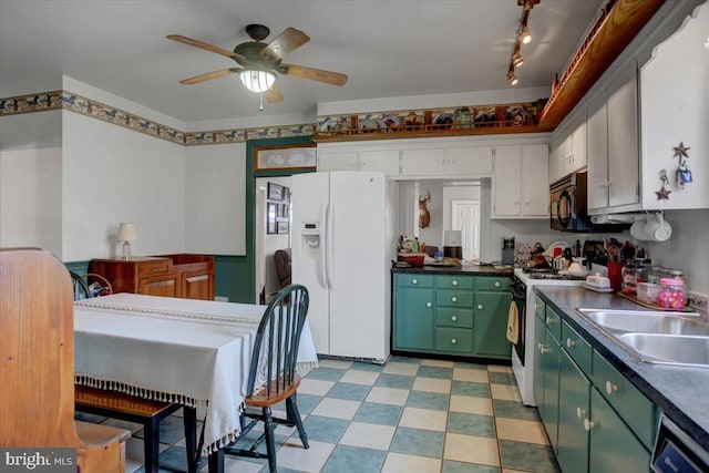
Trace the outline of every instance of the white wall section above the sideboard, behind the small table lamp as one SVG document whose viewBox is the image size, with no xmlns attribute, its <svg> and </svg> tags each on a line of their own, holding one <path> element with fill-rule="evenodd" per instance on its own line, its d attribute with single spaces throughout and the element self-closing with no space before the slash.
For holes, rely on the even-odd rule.
<svg viewBox="0 0 709 473">
<path fill-rule="evenodd" d="M 134 255 L 184 251 L 184 147 L 73 112 L 62 128 L 62 259 L 120 254 L 121 222 Z"/>
</svg>

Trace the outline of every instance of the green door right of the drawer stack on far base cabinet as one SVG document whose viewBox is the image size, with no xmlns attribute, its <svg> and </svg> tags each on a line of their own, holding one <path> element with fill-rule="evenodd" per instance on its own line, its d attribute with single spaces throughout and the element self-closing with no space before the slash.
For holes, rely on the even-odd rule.
<svg viewBox="0 0 709 473">
<path fill-rule="evenodd" d="M 473 305 L 473 352 L 479 357 L 510 359 L 512 343 L 507 340 L 510 295 L 476 292 Z"/>
</svg>

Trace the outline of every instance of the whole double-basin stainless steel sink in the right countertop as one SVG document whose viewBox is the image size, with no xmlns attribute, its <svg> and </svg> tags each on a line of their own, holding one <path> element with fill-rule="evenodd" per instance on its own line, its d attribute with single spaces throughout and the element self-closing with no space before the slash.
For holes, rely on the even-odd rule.
<svg viewBox="0 0 709 473">
<path fill-rule="evenodd" d="M 696 312 L 576 311 L 645 362 L 709 368 L 709 323 Z"/>
</svg>

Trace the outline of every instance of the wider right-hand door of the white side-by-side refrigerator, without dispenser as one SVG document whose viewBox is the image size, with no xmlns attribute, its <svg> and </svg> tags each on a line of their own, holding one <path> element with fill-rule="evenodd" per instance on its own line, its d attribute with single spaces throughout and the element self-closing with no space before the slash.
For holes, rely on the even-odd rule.
<svg viewBox="0 0 709 473">
<path fill-rule="evenodd" d="M 330 173 L 330 354 L 386 359 L 389 354 L 386 177 Z M 294 192 L 295 198 L 295 192 Z"/>
</svg>

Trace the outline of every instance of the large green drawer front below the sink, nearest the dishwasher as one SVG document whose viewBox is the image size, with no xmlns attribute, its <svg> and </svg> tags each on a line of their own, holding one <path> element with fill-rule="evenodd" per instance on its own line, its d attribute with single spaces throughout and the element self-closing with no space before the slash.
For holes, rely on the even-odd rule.
<svg viewBox="0 0 709 473">
<path fill-rule="evenodd" d="M 643 444 L 651 450 L 655 430 L 655 404 L 618 370 L 593 352 L 594 384 Z"/>
</svg>

